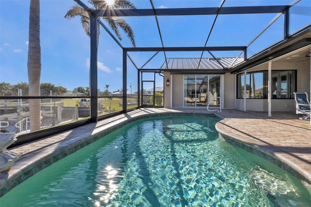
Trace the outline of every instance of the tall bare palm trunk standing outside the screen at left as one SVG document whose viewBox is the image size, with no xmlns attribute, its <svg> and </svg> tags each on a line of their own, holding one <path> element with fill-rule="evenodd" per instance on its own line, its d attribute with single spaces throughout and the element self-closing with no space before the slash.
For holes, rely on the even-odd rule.
<svg viewBox="0 0 311 207">
<path fill-rule="evenodd" d="M 28 45 L 29 96 L 40 96 L 40 1 L 30 0 Z M 40 130 L 40 99 L 29 99 L 30 131 Z"/>
</svg>

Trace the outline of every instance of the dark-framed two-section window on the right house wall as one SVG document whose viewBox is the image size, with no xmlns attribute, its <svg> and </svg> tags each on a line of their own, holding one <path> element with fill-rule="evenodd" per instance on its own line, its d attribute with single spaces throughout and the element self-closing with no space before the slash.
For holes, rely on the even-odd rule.
<svg viewBox="0 0 311 207">
<path fill-rule="evenodd" d="M 268 98 L 268 71 L 246 73 L 244 91 L 244 73 L 238 75 L 237 98 Z M 296 90 L 296 70 L 271 71 L 271 98 L 292 99 Z"/>
</svg>

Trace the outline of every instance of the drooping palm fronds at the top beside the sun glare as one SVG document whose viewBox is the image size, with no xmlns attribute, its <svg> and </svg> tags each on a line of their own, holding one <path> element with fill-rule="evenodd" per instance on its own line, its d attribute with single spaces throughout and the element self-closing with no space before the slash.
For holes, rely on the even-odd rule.
<svg viewBox="0 0 311 207">
<path fill-rule="evenodd" d="M 91 9 L 103 10 L 103 9 L 136 9 L 133 3 L 129 0 L 115 0 L 114 4 L 109 5 L 105 0 L 88 0 L 94 7 Z M 80 5 L 74 5 L 65 15 L 65 18 L 71 19 L 72 17 L 80 16 L 81 23 L 86 32 L 87 36 L 90 36 L 90 14 L 86 9 L 81 7 Z M 113 32 L 117 35 L 117 37 L 122 40 L 121 34 L 119 32 L 119 27 L 124 31 L 127 37 L 131 40 L 133 47 L 136 47 L 135 44 L 135 35 L 133 33 L 132 28 L 128 23 L 125 22 L 124 19 L 119 17 L 103 17 L 104 20 L 111 27 Z M 99 27 L 99 23 L 97 22 L 97 27 Z M 99 38 L 99 29 L 97 30 L 97 44 Z"/>
</svg>

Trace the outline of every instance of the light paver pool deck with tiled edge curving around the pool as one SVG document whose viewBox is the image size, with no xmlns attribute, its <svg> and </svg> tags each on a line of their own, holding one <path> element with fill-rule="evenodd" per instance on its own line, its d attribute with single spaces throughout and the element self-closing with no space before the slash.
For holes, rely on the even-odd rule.
<svg viewBox="0 0 311 207">
<path fill-rule="evenodd" d="M 141 118 L 163 115 L 206 115 L 202 109 L 141 108 L 97 123 L 11 148 L 23 155 L 9 171 L 0 173 L 0 196 L 57 160 Z M 264 157 L 311 186 L 311 126 L 293 112 L 265 113 L 222 110 L 214 113 L 223 120 L 216 124 L 228 142 Z"/>
</svg>

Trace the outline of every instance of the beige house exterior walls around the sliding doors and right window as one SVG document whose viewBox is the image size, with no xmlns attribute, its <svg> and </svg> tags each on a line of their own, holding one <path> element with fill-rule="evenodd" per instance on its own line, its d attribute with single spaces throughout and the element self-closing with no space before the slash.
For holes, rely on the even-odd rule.
<svg viewBox="0 0 311 207">
<path fill-rule="evenodd" d="M 268 63 L 260 65 L 249 71 L 268 70 Z M 272 62 L 272 70 L 297 70 L 297 91 L 308 92 L 310 97 L 310 60 L 301 62 Z M 164 72 L 164 80 L 170 80 L 170 86 L 165 86 L 164 107 L 183 107 L 183 75 L 173 75 Z M 224 109 L 244 110 L 244 100 L 236 99 L 235 75 L 225 73 L 224 75 Z M 171 93 L 172 92 L 172 93 Z M 235 100 L 236 99 L 236 100 Z M 236 101 L 236 103 L 235 103 Z M 268 111 L 268 99 L 246 99 L 246 110 Z M 272 99 L 271 111 L 294 111 L 294 99 Z"/>
</svg>

